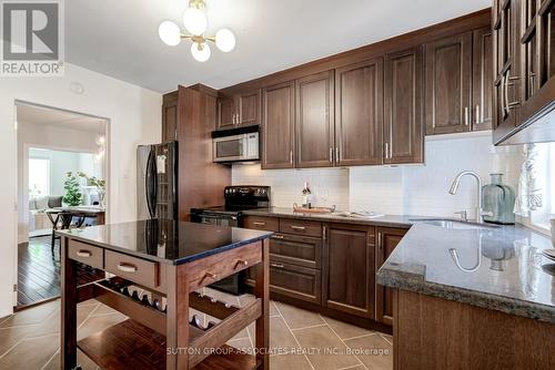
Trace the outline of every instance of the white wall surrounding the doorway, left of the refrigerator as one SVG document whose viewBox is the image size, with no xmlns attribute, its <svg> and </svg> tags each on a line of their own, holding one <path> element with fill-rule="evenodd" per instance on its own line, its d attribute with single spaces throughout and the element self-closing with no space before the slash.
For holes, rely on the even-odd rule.
<svg viewBox="0 0 555 370">
<path fill-rule="evenodd" d="M 70 85 L 79 82 L 83 94 Z M 65 63 L 63 78 L 0 78 L 0 204 L 7 212 L 0 222 L 0 317 L 12 312 L 12 285 L 17 266 L 17 142 L 16 100 L 110 119 L 109 220 L 135 218 L 137 145 L 161 140 L 159 93 Z M 9 212 L 9 209 L 13 209 Z"/>
</svg>

